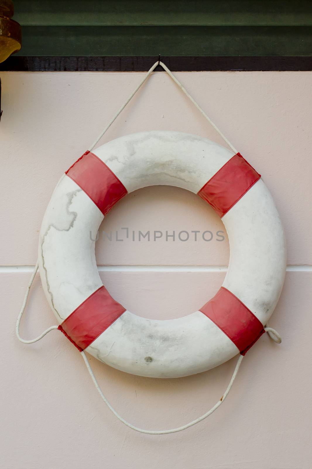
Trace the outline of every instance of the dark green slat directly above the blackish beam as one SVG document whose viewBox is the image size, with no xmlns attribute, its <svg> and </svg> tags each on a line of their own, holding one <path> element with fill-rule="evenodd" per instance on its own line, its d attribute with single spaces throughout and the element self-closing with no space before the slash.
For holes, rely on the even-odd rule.
<svg viewBox="0 0 312 469">
<path fill-rule="evenodd" d="M 312 27 L 23 26 L 16 55 L 311 55 Z"/>
</svg>

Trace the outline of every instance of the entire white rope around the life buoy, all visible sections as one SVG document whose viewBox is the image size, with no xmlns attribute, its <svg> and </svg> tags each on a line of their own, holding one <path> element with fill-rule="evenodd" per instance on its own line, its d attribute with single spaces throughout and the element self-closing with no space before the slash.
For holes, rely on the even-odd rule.
<svg viewBox="0 0 312 469">
<path fill-rule="evenodd" d="M 208 115 L 201 109 L 201 107 L 196 103 L 196 101 L 194 101 L 194 99 L 192 98 L 192 96 L 189 95 L 189 93 L 186 91 L 186 89 L 182 86 L 182 84 L 178 81 L 178 79 L 172 75 L 171 71 L 169 70 L 169 68 L 167 68 L 165 66 L 165 64 L 161 61 L 157 61 L 154 63 L 153 67 L 151 67 L 148 71 L 148 73 L 144 76 L 143 80 L 141 81 L 141 83 L 139 83 L 139 85 L 135 88 L 135 90 L 131 93 L 131 95 L 129 96 L 129 98 L 126 100 L 125 104 L 123 106 L 120 107 L 119 111 L 115 114 L 115 116 L 111 119 L 111 121 L 107 124 L 107 126 L 105 127 L 105 129 L 103 130 L 103 132 L 98 136 L 97 140 L 90 146 L 89 148 L 89 151 L 93 150 L 93 148 L 96 146 L 96 144 L 99 142 L 99 140 L 102 138 L 102 136 L 104 135 L 104 133 L 106 132 L 107 129 L 109 129 L 111 127 L 111 124 L 115 121 L 115 119 L 119 116 L 119 114 L 121 113 L 121 111 L 126 107 L 126 105 L 128 104 L 128 102 L 134 97 L 135 93 L 139 90 L 139 88 L 141 87 L 141 85 L 145 82 L 145 80 L 149 77 L 149 75 L 153 72 L 153 70 L 157 67 L 157 65 L 161 65 L 163 67 L 163 69 L 168 73 L 169 76 L 171 76 L 172 80 L 177 83 L 177 85 L 180 87 L 180 89 L 186 94 L 186 96 L 192 101 L 192 103 L 194 104 L 194 106 L 202 113 L 202 115 L 207 119 L 207 121 L 212 125 L 212 127 L 218 132 L 218 134 L 223 138 L 223 140 L 225 141 L 226 144 L 228 144 L 230 146 L 230 148 L 235 152 L 237 153 L 237 150 L 233 147 L 232 144 L 230 144 L 229 140 L 223 135 L 223 133 L 216 127 L 216 125 L 209 119 Z M 62 175 L 61 179 L 64 177 L 64 174 Z M 32 339 L 32 340 L 24 340 L 22 339 L 22 337 L 20 336 L 20 324 L 21 324 L 21 319 L 22 319 L 22 315 L 23 315 L 23 312 L 26 308 L 26 304 L 27 304 L 27 300 L 28 300 L 28 295 L 30 293 L 30 288 L 31 288 L 31 285 L 34 281 L 34 278 L 36 276 L 36 273 L 37 273 L 37 270 L 38 270 L 38 261 L 37 261 L 37 264 L 34 268 L 34 271 L 30 277 L 30 282 L 28 284 L 28 287 L 27 287 L 27 290 L 26 290 L 26 294 L 24 296 L 24 301 L 22 303 L 22 308 L 21 308 L 21 311 L 18 315 L 18 318 L 17 318 L 17 321 L 16 321 L 16 327 L 15 327 L 15 333 L 16 333 L 16 337 L 18 338 L 18 340 L 20 340 L 23 344 L 33 344 L 34 342 L 37 342 L 38 340 L 41 340 L 43 337 L 45 337 L 45 335 L 55 329 L 58 329 L 58 326 L 57 325 L 52 325 L 51 327 L 49 327 L 48 329 L 46 329 L 42 334 L 40 334 L 36 339 Z M 276 343 L 281 343 L 282 342 L 282 338 L 280 336 L 279 333 L 277 333 L 275 331 L 275 329 L 272 329 L 272 327 L 269 327 L 267 324 L 265 326 L 265 331 L 269 334 L 269 336 L 271 337 L 271 339 L 273 339 Z M 172 428 L 171 430 L 144 430 L 142 428 L 139 428 L 139 427 L 135 427 L 134 425 L 130 424 L 129 422 L 127 422 L 123 417 L 121 417 L 117 412 L 116 410 L 111 406 L 111 404 L 109 403 L 109 401 L 107 401 L 106 397 L 104 396 L 98 382 L 97 382 L 97 379 L 96 377 L 94 376 L 94 373 L 92 371 L 92 368 L 89 364 L 89 361 L 88 361 L 88 358 L 86 356 L 86 354 L 82 351 L 81 352 L 81 355 L 82 355 L 82 358 L 86 364 L 86 367 L 90 373 L 90 376 L 92 378 L 92 381 L 95 385 L 95 387 L 97 388 L 97 391 L 98 393 L 100 394 L 100 396 L 102 397 L 102 399 L 104 400 L 105 404 L 107 405 L 107 407 L 111 410 L 111 412 L 125 425 L 127 425 L 129 428 L 132 428 L 133 430 L 135 431 L 140 431 L 141 433 L 148 433 L 149 435 L 163 435 L 165 433 L 175 433 L 177 431 L 182 431 L 182 430 L 185 430 L 186 428 L 189 428 L 195 424 L 198 424 L 199 422 L 201 422 L 201 420 L 204 420 L 205 418 L 207 418 L 209 415 L 211 415 L 213 412 L 215 412 L 215 410 L 221 406 L 221 404 L 223 403 L 223 401 L 225 401 L 227 395 L 229 394 L 230 392 L 230 389 L 234 383 L 234 380 L 237 376 L 237 373 L 238 373 L 238 370 L 239 370 L 239 367 L 240 367 L 240 364 L 242 363 L 242 360 L 243 360 L 243 356 L 240 355 L 239 358 L 238 358 L 238 361 L 237 361 L 237 364 L 236 364 L 236 367 L 234 369 L 234 372 L 233 372 L 233 375 L 232 375 L 232 378 L 230 379 L 230 383 L 228 385 L 228 387 L 226 388 L 225 390 L 225 393 L 223 394 L 223 396 L 221 397 L 221 399 L 210 409 L 208 410 L 208 412 L 206 412 L 206 414 L 202 415 L 201 417 L 198 417 L 196 418 L 195 420 L 193 420 L 192 422 L 189 422 L 188 424 L 185 424 L 185 425 L 182 425 L 181 427 L 177 427 L 177 428 Z"/>
</svg>

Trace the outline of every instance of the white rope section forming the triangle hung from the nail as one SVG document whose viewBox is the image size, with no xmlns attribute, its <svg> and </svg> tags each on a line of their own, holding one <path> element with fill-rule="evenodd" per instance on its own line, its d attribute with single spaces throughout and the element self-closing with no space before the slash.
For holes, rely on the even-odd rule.
<svg viewBox="0 0 312 469">
<path fill-rule="evenodd" d="M 131 95 L 129 96 L 129 98 L 126 100 L 125 104 L 123 106 L 120 107 L 120 109 L 117 111 L 117 113 L 114 115 L 114 117 L 111 119 L 111 121 L 109 121 L 109 123 L 107 124 L 107 126 L 105 127 L 105 129 L 103 130 L 103 132 L 101 132 L 101 134 L 97 137 L 97 139 L 93 142 L 93 144 L 90 146 L 89 148 L 89 151 L 92 151 L 93 148 L 96 146 L 96 144 L 101 140 L 101 138 L 104 136 L 104 133 L 106 132 L 106 130 L 108 130 L 110 127 L 111 127 L 111 124 L 117 119 L 117 117 L 119 116 L 119 114 L 121 113 L 121 111 L 123 111 L 123 109 L 125 109 L 126 105 L 128 104 L 128 102 L 134 97 L 135 93 L 139 90 L 139 88 L 141 88 L 142 84 L 145 82 L 145 80 L 150 76 L 150 74 L 153 72 L 153 70 L 157 67 L 157 65 L 160 65 L 161 67 L 163 67 L 163 69 L 165 70 L 165 72 L 168 73 L 168 75 L 172 78 L 172 80 L 177 83 L 178 87 L 184 92 L 184 94 L 187 96 L 187 98 L 190 99 L 190 101 L 193 103 L 193 105 L 199 110 L 199 112 L 204 116 L 205 119 L 207 119 L 207 121 L 209 122 L 209 124 L 218 132 L 218 134 L 223 138 L 224 142 L 226 144 L 229 145 L 230 149 L 234 151 L 234 153 L 237 153 L 238 151 L 236 150 L 236 148 L 229 142 L 229 140 L 223 135 L 223 133 L 221 132 L 221 130 L 219 130 L 217 128 L 217 126 L 213 123 L 213 121 L 211 121 L 211 119 L 209 119 L 208 115 L 203 111 L 203 109 L 201 108 L 201 106 L 196 103 L 196 101 L 192 98 L 192 96 L 186 91 L 186 89 L 184 88 L 184 86 L 178 81 L 178 78 L 176 78 L 172 73 L 171 71 L 169 70 L 168 67 L 166 67 L 166 65 L 161 62 L 161 61 L 157 61 L 154 63 L 153 67 L 151 67 L 149 69 L 149 71 L 147 72 L 147 74 L 144 76 L 143 80 L 141 81 L 141 83 L 138 84 L 138 86 L 135 88 L 135 90 L 131 93 Z"/>
</svg>

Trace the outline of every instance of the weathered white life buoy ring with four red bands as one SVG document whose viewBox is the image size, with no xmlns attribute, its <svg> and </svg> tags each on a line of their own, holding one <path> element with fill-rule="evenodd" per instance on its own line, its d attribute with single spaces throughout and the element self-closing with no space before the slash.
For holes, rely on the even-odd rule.
<svg viewBox="0 0 312 469">
<path fill-rule="evenodd" d="M 39 271 L 59 329 L 77 348 L 128 373 L 172 378 L 245 354 L 264 332 L 285 276 L 283 228 L 260 174 L 233 153 L 200 136 L 142 132 L 87 151 L 64 174 L 43 219 Z M 215 297 L 163 321 L 138 317 L 111 298 L 89 236 L 126 193 L 159 184 L 207 200 L 230 241 Z"/>
</svg>

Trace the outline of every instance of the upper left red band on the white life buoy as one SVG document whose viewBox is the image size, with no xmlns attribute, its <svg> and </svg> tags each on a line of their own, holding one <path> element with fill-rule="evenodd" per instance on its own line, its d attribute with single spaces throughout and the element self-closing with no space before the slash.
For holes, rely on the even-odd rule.
<svg viewBox="0 0 312 469">
<path fill-rule="evenodd" d="M 127 189 L 118 177 L 90 151 L 77 159 L 65 174 L 78 184 L 103 215 L 127 194 Z"/>
</svg>

